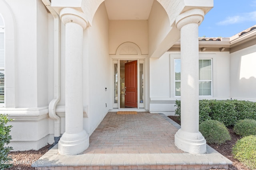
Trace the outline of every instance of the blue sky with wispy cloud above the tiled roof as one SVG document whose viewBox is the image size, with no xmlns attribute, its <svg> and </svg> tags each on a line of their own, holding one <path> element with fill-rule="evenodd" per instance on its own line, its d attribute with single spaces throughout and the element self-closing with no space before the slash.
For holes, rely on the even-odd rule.
<svg viewBox="0 0 256 170">
<path fill-rule="evenodd" d="M 214 0 L 199 26 L 199 37 L 232 37 L 256 25 L 256 0 Z"/>
</svg>

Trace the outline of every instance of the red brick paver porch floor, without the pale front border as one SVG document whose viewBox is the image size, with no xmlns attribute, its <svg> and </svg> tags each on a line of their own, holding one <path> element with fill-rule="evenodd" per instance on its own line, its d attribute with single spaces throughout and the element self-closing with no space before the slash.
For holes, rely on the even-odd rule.
<svg viewBox="0 0 256 170">
<path fill-rule="evenodd" d="M 183 153 L 174 145 L 176 131 L 156 113 L 109 112 L 90 136 L 90 146 L 84 154 Z"/>
</svg>

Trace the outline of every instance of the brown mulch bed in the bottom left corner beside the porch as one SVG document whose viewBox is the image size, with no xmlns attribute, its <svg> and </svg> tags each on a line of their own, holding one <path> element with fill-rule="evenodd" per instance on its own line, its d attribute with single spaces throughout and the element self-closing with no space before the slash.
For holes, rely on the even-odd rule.
<svg viewBox="0 0 256 170">
<path fill-rule="evenodd" d="M 36 162 L 43 154 L 45 154 L 51 145 L 47 145 L 39 150 L 26 150 L 10 152 L 8 156 L 12 156 L 14 164 L 12 168 L 7 170 L 35 170 L 31 164 Z"/>
</svg>

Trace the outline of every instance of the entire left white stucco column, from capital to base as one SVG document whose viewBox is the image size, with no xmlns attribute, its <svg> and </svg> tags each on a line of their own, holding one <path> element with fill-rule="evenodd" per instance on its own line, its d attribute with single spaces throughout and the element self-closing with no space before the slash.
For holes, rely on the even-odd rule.
<svg viewBox="0 0 256 170">
<path fill-rule="evenodd" d="M 65 35 L 65 133 L 58 148 L 62 155 L 75 155 L 89 146 L 89 136 L 83 129 L 83 31 L 87 26 L 84 14 L 73 8 L 63 8 L 60 18 Z"/>
</svg>

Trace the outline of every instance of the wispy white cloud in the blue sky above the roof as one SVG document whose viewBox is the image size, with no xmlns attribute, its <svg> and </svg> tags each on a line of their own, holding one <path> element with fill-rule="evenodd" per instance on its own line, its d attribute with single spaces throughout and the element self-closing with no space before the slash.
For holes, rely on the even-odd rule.
<svg viewBox="0 0 256 170">
<path fill-rule="evenodd" d="M 242 23 L 246 21 L 256 21 L 256 11 L 242 13 L 237 16 L 231 16 L 231 17 L 229 16 L 225 20 L 218 22 L 217 25 L 230 25 L 230 24 Z"/>
</svg>

